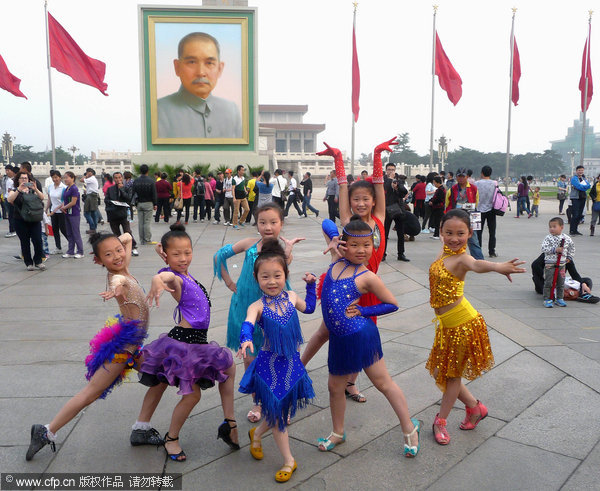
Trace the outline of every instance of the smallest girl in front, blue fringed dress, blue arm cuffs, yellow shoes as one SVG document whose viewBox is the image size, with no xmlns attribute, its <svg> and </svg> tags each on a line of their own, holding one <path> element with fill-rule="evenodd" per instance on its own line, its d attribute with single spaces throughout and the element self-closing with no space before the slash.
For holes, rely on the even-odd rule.
<svg viewBox="0 0 600 491">
<path fill-rule="evenodd" d="M 254 277 L 263 295 L 248 307 L 238 351 L 240 358 L 248 356 L 247 349 L 254 353 L 252 339 L 254 324 L 257 323 L 263 331 L 264 343 L 242 378 L 240 392 L 254 393 L 264 415 L 261 424 L 248 432 L 250 454 L 257 460 L 263 458 L 261 437 L 271 429 L 284 460 L 283 467 L 275 474 L 278 482 L 289 481 L 298 467 L 290 451 L 286 431 L 289 418 L 315 396 L 312 381 L 298 352 L 303 339 L 296 309 L 306 314 L 315 311 L 317 278 L 310 273 L 305 274 L 306 300 L 302 300 L 293 291 L 285 290 L 288 273 L 282 247 L 273 240 L 265 242 L 254 263 Z"/>
</svg>

